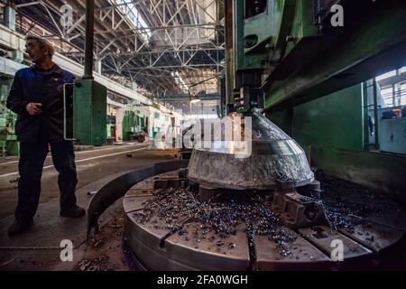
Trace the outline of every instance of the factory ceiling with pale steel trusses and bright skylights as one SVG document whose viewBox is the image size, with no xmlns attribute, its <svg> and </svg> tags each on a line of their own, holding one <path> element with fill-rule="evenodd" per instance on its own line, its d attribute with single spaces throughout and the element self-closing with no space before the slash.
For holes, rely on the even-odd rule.
<svg viewBox="0 0 406 289">
<path fill-rule="evenodd" d="M 73 8 L 70 25 L 61 21 L 65 4 Z M 61 54 L 83 63 L 85 1 L 16 0 L 14 5 L 19 32 L 48 37 Z M 218 96 L 225 65 L 222 1 L 98 0 L 95 8 L 95 70 L 127 87 L 133 82 L 137 91 L 163 102 Z"/>
</svg>

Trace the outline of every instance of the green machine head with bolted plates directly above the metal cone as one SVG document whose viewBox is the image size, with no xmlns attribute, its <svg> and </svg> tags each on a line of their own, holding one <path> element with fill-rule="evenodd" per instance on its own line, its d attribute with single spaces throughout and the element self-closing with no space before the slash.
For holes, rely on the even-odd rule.
<svg viewBox="0 0 406 289">
<path fill-rule="evenodd" d="M 309 37 L 318 35 L 313 23 L 312 1 L 267 0 L 262 13 L 249 17 L 247 5 L 235 5 L 236 70 L 274 69 Z"/>
</svg>

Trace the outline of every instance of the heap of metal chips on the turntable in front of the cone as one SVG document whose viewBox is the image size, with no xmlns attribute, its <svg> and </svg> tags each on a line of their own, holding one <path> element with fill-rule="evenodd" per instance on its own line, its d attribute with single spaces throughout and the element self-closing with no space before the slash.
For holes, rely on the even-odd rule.
<svg viewBox="0 0 406 289">
<path fill-rule="evenodd" d="M 195 232 L 192 238 L 199 243 L 199 236 L 214 232 L 220 240 L 217 246 L 234 248 L 234 243 L 226 242 L 226 238 L 236 234 L 236 226 L 245 223 L 248 245 L 254 251 L 255 235 L 266 236 L 275 242 L 282 256 L 291 254 L 287 245 L 294 241 L 297 235 L 286 230 L 281 225 L 279 214 L 270 209 L 268 201 L 254 196 L 246 203 L 235 200 L 227 202 L 199 202 L 196 194 L 186 189 L 168 189 L 147 200 L 143 211 L 135 212 L 137 222 L 153 223 L 153 217 L 165 221 L 165 228 L 177 230 L 180 235 L 185 234 L 184 226 L 190 221 L 200 223 L 200 232 Z M 188 222 L 186 222 L 188 221 Z M 200 233 L 200 234 L 198 234 Z M 185 236 L 185 240 L 190 237 Z M 209 238 L 215 241 L 215 238 Z"/>
</svg>

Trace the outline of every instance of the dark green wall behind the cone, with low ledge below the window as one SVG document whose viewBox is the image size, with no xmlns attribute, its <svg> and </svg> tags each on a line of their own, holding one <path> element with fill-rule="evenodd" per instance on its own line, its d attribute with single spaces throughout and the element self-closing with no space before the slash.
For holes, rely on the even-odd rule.
<svg viewBox="0 0 406 289">
<path fill-rule="evenodd" d="M 311 165 L 406 204 L 406 155 L 364 150 L 361 84 L 269 117 L 303 147 Z"/>
</svg>

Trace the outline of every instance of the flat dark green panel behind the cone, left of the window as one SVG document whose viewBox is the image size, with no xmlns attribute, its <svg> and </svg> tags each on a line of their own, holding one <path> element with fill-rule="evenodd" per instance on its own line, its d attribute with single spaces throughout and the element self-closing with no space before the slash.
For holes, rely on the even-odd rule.
<svg viewBox="0 0 406 289">
<path fill-rule="evenodd" d="M 363 150 L 362 107 L 361 84 L 294 107 L 292 137 L 302 145 Z"/>
</svg>

